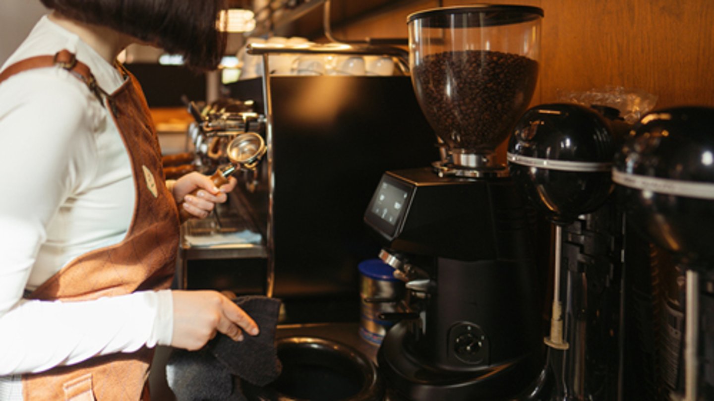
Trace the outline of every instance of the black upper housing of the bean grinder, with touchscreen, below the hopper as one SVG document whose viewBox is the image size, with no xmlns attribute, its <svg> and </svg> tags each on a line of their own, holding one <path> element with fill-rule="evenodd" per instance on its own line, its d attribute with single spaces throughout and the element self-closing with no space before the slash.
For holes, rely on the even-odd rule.
<svg viewBox="0 0 714 401">
<path fill-rule="evenodd" d="M 483 260 L 528 248 L 513 233 L 526 221 L 508 177 L 442 177 L 428 167 L 387 171 L 365 221 L 399 253 Z"/>
</svg>

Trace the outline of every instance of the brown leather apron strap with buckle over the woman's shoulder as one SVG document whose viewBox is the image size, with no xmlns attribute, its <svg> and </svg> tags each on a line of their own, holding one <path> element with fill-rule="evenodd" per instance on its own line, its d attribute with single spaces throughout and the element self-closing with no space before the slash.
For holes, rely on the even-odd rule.
<svg viewBox="0 0 714 401">
<path fill-rule="evenodd" d="M 99 103 L 104 106 L 102 97 L 106 96 L 107 93 L 99 88 L 99 85 L 96 83 L 96 79 L 94 79 L 94 75 L 92 75 L 89 70 L 89 66 L 77 60 L 74 53 L 71 53 L 66 49 L 58 51 L 54 56 L 34 56 L 29 59 L 18 61 L 15 64 L 11 64 L 9 67 L 5 68 L 2 73 L 0 73 L 0 83 L 3 83 L 3 81 L 11 76 L 14 76 L 16 73 L 21 73 L 34 68 L 46 68 L 51 66 L 60 66 L 61 68 L 69 71 L 72 75 L 76 76 L 76 78 L 80 81 L 84 82 L 89 90 L 94 93 L 94 96 L 99 99 Z"/>
</svg>

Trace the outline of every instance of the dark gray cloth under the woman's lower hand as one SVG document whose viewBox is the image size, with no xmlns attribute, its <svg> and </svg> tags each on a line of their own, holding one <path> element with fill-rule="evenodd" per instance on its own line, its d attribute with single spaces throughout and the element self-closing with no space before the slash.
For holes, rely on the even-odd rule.
<svg viewBox="0 0 714 401">
<path fill-rule="evenodd" d="M 243 341 L 218 334 L 201 350 L 173 350 L 166 379 L 176 400 L 243 401 L 241 379 L 263 386 L 280 375 L 275 335 L 281 301 L 250 295 L 233 302 L 255 320 L 260 333 L 244 334 Z"/>
</svg>

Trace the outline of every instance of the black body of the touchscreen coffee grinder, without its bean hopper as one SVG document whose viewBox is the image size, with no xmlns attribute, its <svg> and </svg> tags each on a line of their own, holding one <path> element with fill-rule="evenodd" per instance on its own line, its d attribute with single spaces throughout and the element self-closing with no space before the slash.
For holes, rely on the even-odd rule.
<svg viewBox="0 0 714 401">
<path fill-rule="evenodd" d="M 510 178 L 388 171 L 365 213 L 411 290 L 379 365 L 413 400 L 513 397 L 543 365 L 531 231 Z"/>
</svg>

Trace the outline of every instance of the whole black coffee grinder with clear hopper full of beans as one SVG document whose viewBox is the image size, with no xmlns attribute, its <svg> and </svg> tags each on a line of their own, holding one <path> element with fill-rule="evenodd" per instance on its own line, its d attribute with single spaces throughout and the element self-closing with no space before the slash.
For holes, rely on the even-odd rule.
<svg viewBox="0 0 714 401">
<path fill-rule="evenodd" d="M 510 5 L 408 16 L 411 79 L 442 157 L 384 173 L 364 216 L 408 290 L 378 351 L 394 397 L 528 399 L 542 385 L 526 201 L 495 158 L 533 96 L 542 17 Z"/>
</svg>

